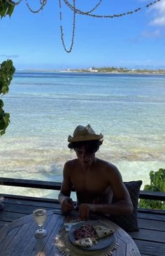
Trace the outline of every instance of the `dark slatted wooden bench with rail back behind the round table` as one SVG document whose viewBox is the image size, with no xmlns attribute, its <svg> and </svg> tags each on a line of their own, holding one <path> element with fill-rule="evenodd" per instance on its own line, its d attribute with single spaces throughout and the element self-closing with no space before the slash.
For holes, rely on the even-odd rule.
<svg viewBox="0 0 165 256">
<path fill-rule="evenodd" d="M 53 181 L 32 181 L 22 179 L 0 178 L 0 185 L 20 186 L 24 188 L 43 188 L 59 191 L 61 183 Z M 0 228 L 13 220 L 31 214 L 36 207 L 55 209 L 60 212 L 57 199 L 13 196 L 1 194 L 5 209 L 0 211 Z M 165 200 L 165 193 L 140 191 L 140 198 Z M 130 232 L 141 255 L 165 255 L 165 211 L 138 209 L 139 231 Z"/>
</svg>

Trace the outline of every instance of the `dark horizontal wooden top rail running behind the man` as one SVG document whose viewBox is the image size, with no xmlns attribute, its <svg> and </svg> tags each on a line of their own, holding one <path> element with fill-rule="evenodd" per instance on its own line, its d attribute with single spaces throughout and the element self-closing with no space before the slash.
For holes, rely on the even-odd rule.
<svg viewBox="0 0 165 256">
<path fill-rule="evenodd" d="M 61 182 L 36 181 L 31 179 L 12 179 L 12 178 L 0 178 L 0 185 L 19 186 L 24 188 L 43 188 L 43 189 L 52 189 L 57 191 L 59 191 L 61 188 Z M 152 192 L 152 191 L 140 191 L 139 198 L 164 201 L 165 193 Z"/>
</svg>

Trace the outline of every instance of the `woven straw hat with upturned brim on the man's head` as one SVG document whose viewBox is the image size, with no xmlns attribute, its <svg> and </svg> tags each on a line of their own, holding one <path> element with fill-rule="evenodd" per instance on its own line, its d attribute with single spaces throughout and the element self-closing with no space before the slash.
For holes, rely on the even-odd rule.
<svg viewBox="0 0 165 256">
<path fill-rule="evenodd" d="M 87 124 L 86 127 L 82 125 L 78 125 L 73 132 L 73 136 L 69 135 L 68 141 L 69 142 L 77 142 L 77 141 L 99 141 L 103 139 L 103 134 L 95 134 L 94 130 Z"/>
</svg>

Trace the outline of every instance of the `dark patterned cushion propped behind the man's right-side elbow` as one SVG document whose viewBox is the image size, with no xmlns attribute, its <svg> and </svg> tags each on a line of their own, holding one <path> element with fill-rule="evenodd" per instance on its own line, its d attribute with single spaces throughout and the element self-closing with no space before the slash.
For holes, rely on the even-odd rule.
<svg viewBox="0 0 165 256">
<path fill-rule="evenodd" d="M 115 222 L 117 225 L 121 226 L 127 232 L 138 231 L 138 219 L 137 219 L 137 210 L 138 210 L 138 197 L 139 191 L 141 188 L 142 181 L 129 181 L 124 182 L 131 201 L 134 207 L 134 211 L 131 215 L 111 215 L 110 220 Z"/>
</svg>

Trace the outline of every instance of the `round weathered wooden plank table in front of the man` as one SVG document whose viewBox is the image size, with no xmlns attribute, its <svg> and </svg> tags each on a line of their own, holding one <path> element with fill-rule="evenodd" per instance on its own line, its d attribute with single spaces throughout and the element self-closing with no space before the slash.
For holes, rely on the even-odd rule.
<svg viewBox="0 0 165 256">
<path fill-rule="evenodd" d="M 61 256 L 56 246 L 56 236 L 64 226 L 65 217 L 55 211 L 48 211 L 45 229 L 48 235 L 45 238 L 36 238 L 34 231 L 36 224 L 33 215 L 27 215 L 8 224 L 0 230 L 1 256 Z M 108 221 L 110 222 L 110 221 Z M 111 222 L 115 229 L 115 238 L 118 243 L 113 256 L 140 256 L 140 252 L 131 237 L 119 226 Z M 80 249 L 82 250 L 82 249 Z"/>
</svg>

